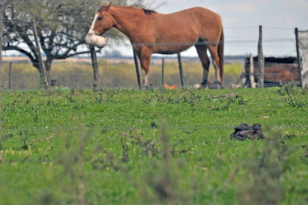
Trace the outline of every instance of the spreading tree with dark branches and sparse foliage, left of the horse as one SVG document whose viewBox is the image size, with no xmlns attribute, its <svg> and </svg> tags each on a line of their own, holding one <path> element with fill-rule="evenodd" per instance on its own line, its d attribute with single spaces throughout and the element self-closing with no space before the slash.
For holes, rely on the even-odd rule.
<svg viewBox="0 0 308 205">
<path fill-rule="evenodd" d="M 24 0 L 17 3 L 6 1 L 3 15 L 3 51 L 14 50 L 23 53 L 29 57 L 33 66 L 43 77 L 34 43 L 34 31 L 31 27 L 31 23 L 35 20 L 42 55 L 45 57 L 44 66 L 47 77 L 50 79 L 51 63 L 54 59 L 66 59 L 89 53 L 85 46 L 85 37 L 94 13 L 101 5 L 97 2 L 89 0 Z M 113 3 L 114 5 L 142 6 L 142 0 L 118 0 Z M 106 33 L 106 36 L 116 42 L 124 39 L 116 29 Z"/>
</svg>

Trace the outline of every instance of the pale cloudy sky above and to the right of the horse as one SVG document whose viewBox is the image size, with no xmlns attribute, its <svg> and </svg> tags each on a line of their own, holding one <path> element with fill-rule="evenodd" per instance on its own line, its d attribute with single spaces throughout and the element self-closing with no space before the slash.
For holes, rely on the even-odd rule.
<svg viewBox="0 0 308 205">
<path fill-rule="evenodd" d="M 219 14 L 224 27 L 225 55 L 257 55 L 259 25 L 265 56 L 295 56 L 294 29 L 308 30 L 308 0 L 150 0 L 149 7 L 168 14 L 200 6 Z M 116 48 L 115 48 L 116 49 Z M 123 54 L 131 49 L 118 48 Z M 184 56 L 197 56 L 194 48 Z"/>
</svg>

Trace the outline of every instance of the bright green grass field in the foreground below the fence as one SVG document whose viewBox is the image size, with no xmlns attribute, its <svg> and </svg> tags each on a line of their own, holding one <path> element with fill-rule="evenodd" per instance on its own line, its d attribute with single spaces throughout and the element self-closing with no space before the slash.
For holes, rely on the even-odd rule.
<svg viewBox="0 0 308 205">
<path fill-rule="evenodd" d="M 307 89 L 8 90 L 1 101 L 0 204 L 308 203 Z M 265 139 L 231 140 L 241 123 Z"/>
</svg>

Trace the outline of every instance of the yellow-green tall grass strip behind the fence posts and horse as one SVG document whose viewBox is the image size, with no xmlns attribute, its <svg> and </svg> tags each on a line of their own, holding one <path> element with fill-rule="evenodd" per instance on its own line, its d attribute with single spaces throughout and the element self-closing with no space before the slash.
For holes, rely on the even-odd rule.
<svg viewBox="0 0 308 205">
<path fill-rule="evenodd" d="M 2 73 L 3 87 L 8 88 L 9 62 L 5 61 Z M 214 81 L 214 68 L 210 66 L 209 79 Z M 99 60 L 99 72 L 102 87 L 137 87 L 136 70 L 132 63 L 112 63 Z M 183 75 L 186 86 L 201 83 L 203 68 L 198 60 L 183 62 Z M 225 87 L 235 83 L 242 73 L 242 64 L 225 64 Z M 84 87 L 91 88 L 93 84 L 92 65 L 88 60 L 54 61 L 51 66 L 51 79 L 55 79 L 57 87 Z M 151 64 L 149 81 L 151 85 L 162 85 L 162 65 Z M 167 84 L 180 84 L 179 66 L 177 61 L 168 61 L 164 67 L 164 81 Z M 12 64 L 11 86 L 12 89 L 33 90 L 39 87 L 39 74 L 36 68 L 27 61 L 16 61 Z"/>
</svg>

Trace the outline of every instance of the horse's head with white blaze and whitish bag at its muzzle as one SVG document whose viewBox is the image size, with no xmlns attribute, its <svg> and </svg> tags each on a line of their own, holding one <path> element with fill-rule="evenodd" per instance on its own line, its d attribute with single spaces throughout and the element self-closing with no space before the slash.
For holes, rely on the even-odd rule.
<svg viewBox="0 0 308 205">
<path fill-rule="evenodd" d="M 107 44 L 107 38 L 104 38 L 102 35 L 111 29 L 114 25 L 114 21 L 109 12 L 111 5 L 112 3 L 109 5 L 104 3 L 99 8 L 99 10 L 97 10 L 92 25 L 86 36 L 86 42 L 88 44 L 92 44 L 101 48 Z"/>
</svg>

